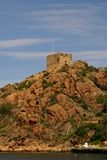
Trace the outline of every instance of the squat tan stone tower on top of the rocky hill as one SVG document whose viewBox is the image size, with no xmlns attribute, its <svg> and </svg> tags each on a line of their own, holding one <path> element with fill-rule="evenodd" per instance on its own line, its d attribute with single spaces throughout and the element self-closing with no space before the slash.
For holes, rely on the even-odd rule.
<svg viewBox="0 0 107 160">
<path fill-rule="evenodd" d="M 56 54 L 50 54 L 47 56 L 47 67 L 58 64 L 72 65 L 72 54 L 57 52 Z"/>
</svg>

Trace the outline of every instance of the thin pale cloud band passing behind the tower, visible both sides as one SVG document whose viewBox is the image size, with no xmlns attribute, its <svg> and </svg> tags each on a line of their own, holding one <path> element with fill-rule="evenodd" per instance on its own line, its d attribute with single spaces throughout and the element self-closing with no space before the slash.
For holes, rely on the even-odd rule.
<svg viewBox="0 0 107 160">
<path fill-rule="evenodd" d="M 15 59 L 27 60 L 33 58 L 46 57 L 48 54 L 53 54 L 52 52 L 18 52 L 18 51 L 3 51 L 0 55 L 5 55 L 9 57 L 13 57 Z M 107 59 L 107 50 L 91 50 L 91 51 L 80 51 L 80 52 L 72 52 L 73 59 L 83 59 L 83 60 L 103 60 Z"/>
</svg>

